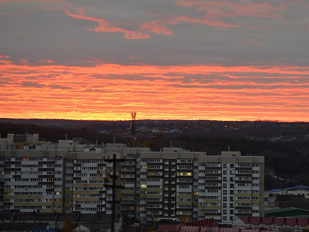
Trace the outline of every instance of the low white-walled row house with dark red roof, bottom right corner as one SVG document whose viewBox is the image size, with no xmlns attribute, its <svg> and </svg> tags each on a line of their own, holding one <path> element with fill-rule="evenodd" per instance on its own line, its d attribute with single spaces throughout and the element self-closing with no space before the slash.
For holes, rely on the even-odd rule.
<svg viewBox="0 0 309 232">
<path fill-rule="evenodd" d="M 309 218 L 275 218 L 275 217 L 238 217 L 232 222 L 233 228 L 254 228 L 301 232 L 309 228 Z M 263 229 L 263 231 L 264 231 Z"/>
</svg>

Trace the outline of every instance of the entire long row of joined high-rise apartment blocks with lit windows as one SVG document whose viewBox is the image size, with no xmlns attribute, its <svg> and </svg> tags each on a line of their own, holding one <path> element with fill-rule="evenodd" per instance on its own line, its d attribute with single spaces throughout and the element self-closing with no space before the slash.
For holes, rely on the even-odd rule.
<svg viewBox="0 0 309 232">
<path fill-rule="evenodd" d="M 78 140 L 19 142 L 21 149 L 14 140 L 0 142 L 1 210 L 111 214 L 112 201 L 119 200 L 115 213 L 142 224 L 210 217 L 231 223 L 264 213 L 264 157 L 239 151 L 212 156 L 172 146 L 151 152 Z M 122 187 L 113 192 L 112 184 Z"/>
</svg>

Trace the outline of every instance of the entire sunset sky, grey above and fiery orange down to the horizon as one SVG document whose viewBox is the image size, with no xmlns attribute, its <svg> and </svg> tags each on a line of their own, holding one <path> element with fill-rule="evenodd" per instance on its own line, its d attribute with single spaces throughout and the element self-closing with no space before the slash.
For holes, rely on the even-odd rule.
<svg viewBox="0 0 309 232">
<path fill-rule="evenodd" d="M 0 118 L 309 121 L 308 0 L 0 0 Z"/>
</svg>

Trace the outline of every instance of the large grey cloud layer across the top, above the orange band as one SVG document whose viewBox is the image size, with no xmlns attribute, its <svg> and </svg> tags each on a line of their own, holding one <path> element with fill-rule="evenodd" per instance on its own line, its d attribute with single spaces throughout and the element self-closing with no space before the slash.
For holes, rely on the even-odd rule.
<svg viewBox="0 0 309 232">
<path fill-rule="evenodd" d="M 221 12 L 218 12 L 217 20 L 239 25 L 236 28 L 185 20 L 171 24 L 169 20 L 176 16 L 202 20 L 211 15 L 210 11 L 197 12 L 198 6 L 185 7 L 175 5 L 172 1 L 67 2 L 69 4 L 48 1 L 40 4 L 1 3 L 2 11 L 6 12 L 0 15 L 2 55 L 9 55 L 15 61 L 28 59 L 36 63 L 39 60 L 54 60 L 66 65 L 81 64 L 75 60 L 95 59 L 120 64 L 137 62 L 153 65 L 243 65 L 252 62 L 307 65 L 307 1 L 302 2 L 303 6 L 299 5 L 301 3 L 293 5 L 287 1 L 272 1 L 268 12 L 263 7 L 256 7 L 256 12 L 249 11 L 252 10 L 250 5 L 242 3 L 246 1 L 227 1 L 240 4 L 248 10 L 248 15 L 245 15 L 235 12 L 231 7 L 219 7 Z M 265 3 L 260 0 L 251 4 L 259 2 Z M 206 9 L 211 7 L 205 6 Z M 88 31 L 85 29 L 94 29 L 98 23 L 74 19 L 63 13 L 66 10 L 78 14 L 78 7 L 84 10 L 86 16 L 108 20 L 128 30 L 138 31 L 140 23 L 161 20 L 174 35 L 158 35 L 141 30 L 143 34 L 150 33 L 151 38 L 127 40 L 124 33 L 120 32 Z M 248 39 L 260 41 L 261 44 L 248 43 Z M 136 58 L 129 59 L 132 56 Z"/>
</svg>

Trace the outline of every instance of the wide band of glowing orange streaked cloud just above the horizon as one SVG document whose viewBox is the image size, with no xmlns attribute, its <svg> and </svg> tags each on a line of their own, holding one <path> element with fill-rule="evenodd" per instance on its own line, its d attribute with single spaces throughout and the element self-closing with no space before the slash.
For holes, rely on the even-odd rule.
<svg viewBox="0 0 309 232">
<path fill-rule="evenodd" d="M 0 65 L 9 118 L 307 121 L 309 67 Z M 296 80 L 296 81 L 295 81 Z"/>
</svg>

